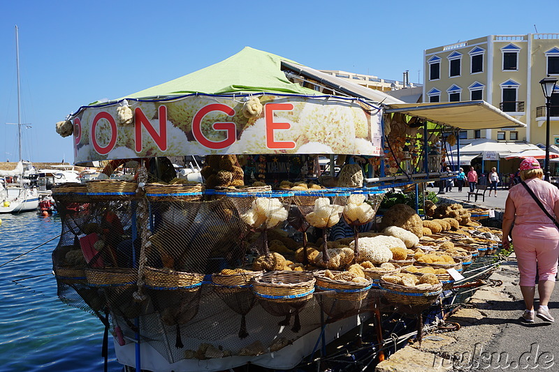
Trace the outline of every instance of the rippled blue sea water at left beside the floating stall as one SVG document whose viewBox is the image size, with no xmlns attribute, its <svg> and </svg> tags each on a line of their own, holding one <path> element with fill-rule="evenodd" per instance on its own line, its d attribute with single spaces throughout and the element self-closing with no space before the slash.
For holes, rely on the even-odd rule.
<svg viewBox="0 0 559 372">
<path fill-rule="evenodd" d="M 0 265 L 56 237 L 58 216 L 0 214 Z M 0 267 L 0 371 L 103 371 L 104 327 L 57 297 L 50 255 L 58 239 Z M 109 336 L 109 371 L 122 371 Z"/>
</svg>

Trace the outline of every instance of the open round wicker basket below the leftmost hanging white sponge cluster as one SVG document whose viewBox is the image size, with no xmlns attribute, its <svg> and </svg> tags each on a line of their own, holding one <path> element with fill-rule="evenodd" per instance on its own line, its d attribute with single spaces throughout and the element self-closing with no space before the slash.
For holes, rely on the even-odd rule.
<svg viewBox="0 0 559 372">
<path fill-rule="evenodd" d="M 304 271 L 270 271 L 252 278 L 254 295 L 271 302 L 303 302 L 312 298 L 316 279 Z"/>
</svg>

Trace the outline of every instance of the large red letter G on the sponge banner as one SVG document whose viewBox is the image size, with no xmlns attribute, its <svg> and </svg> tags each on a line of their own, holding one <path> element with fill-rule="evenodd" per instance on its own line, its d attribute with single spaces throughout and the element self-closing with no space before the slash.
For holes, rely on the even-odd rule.
<svg viewBox="0 0 559 372">
<path fill-rule="evenodd" d="M 225 140 L 222 141 L 212 141 L 205 137 L 204 133 L 202 133 L 202 119 L 204 118 L 205 114 L 212 111 L 221 111 L 227 114 L 228 116 L 232 117 L 235 114 L 235 110 L 233 110 L 228 105 L 224 105 L 222 103 L 212 103 L 211 105 L 207 105 L 202 107 L 196 115 L 194 115 L 194 119 L 192 119 L 192 135 L 196 141 L 200 142 L 202 146 L 208 147 L 208 149 L 219 150 L 225 149 L 231 144 L 235 143 L 235 139 L 237 137 L 237 126 L 233 122 L 226 122 L 226 123 L 214 123 L 212 128 L 216 131 L 226 131 L 227 135 Z"/>
</svg>

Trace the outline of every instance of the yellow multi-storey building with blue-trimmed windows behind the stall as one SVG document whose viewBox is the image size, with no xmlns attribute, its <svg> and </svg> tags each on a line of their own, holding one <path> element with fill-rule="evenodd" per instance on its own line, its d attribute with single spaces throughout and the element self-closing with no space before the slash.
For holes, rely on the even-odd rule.
<svg viewBox="0 0 559 372">
<path fill-rule="evenodd" d="M 424 102 L 484 100 L 526 128 L 464 131 L 477 138 L 546 143 L 545 98 L 539 81 L 559 78 L 559 34 L 490 35 L 423 52 Z M 550 144 L 559 145 L 559 87 L 551 98 Z"/>
</svg>

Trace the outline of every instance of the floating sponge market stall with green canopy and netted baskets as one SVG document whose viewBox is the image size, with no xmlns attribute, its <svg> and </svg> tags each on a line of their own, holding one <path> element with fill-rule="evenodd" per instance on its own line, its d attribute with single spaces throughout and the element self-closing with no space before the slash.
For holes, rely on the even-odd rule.
<svg viewBox="0 0 559 372">
<path fill-rule="evenodd" d="M 284 62 L 292 73 L 293 61 L 245 48 L 57 124 L 76 163 L 106 163 L 53 191 L 59 297 L 99 317 L 123 364 L 291 369 L 370 312 L 433 304 L 477 253 L 447 251 L 452 239 L 493 246 L 450 206 L 434 230 L 400 205 L 372 231 L 386 188 L 438 174 L 428 154 L 440 140 L 351 87 L 305 88 Z M 205 156 L 202 184 L 177 177 L 167 158 L 184 155 Z M 319 155 L 337 177 L 320 174 Z M 111 178 L 119 167 L 130 172 Z"/>
</svg>

